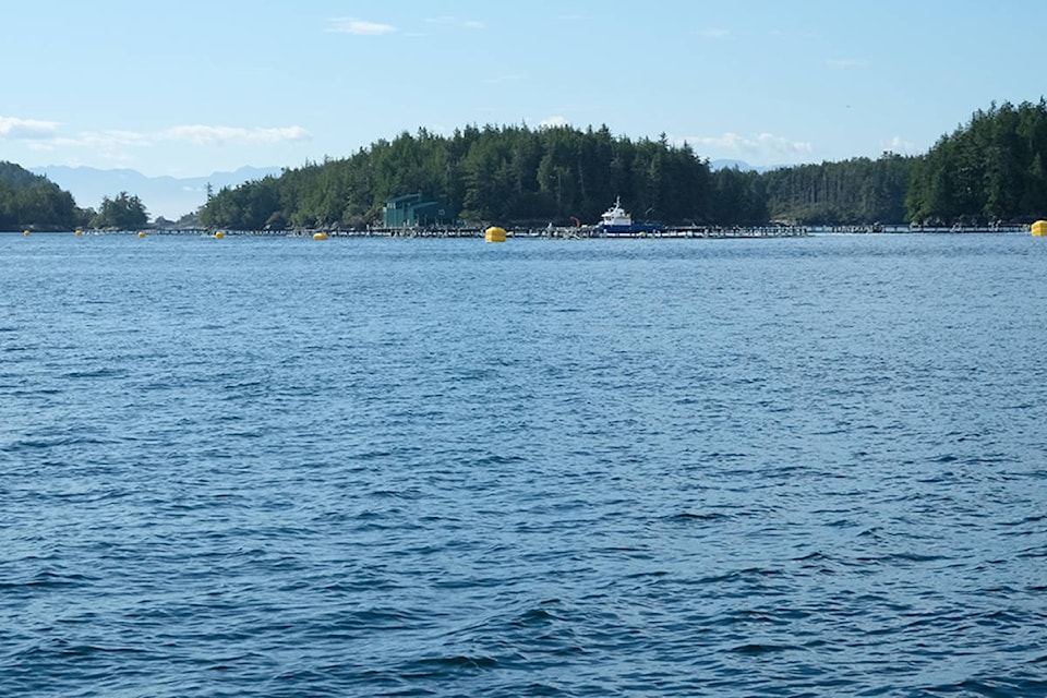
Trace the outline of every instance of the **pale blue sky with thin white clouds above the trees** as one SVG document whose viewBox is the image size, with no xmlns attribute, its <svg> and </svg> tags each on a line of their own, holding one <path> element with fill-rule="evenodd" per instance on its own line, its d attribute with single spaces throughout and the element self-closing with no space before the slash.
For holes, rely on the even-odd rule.
<svg viewBox="0 0 1047 698">
<path fill-rule="evenodd" d="M 470 123 L 753 165 L 915 154 L 1047 94 L 1042 0 L 12 0 L 0 25 L 0 160 L 149 176 Z"/>
</svg>

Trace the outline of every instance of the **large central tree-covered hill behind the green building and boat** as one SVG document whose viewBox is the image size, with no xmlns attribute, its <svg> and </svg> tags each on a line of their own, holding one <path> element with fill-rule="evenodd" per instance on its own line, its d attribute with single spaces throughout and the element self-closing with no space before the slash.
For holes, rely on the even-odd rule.
<svg viewBox="0 0 1047 698">
<path fill-rule="evenodd" d="M 236 189 L 203 207 L 213 227 L 359 227 L 389 198 L 423 193 L 467 221 L 592 222 L 616 196 L 637 219 L 746 224 L 767 219 L 755 173 L 710 172 L 688 145 L 614 137 L 606 127 L 420 130 L 341 160 L 309 164 Z"/>
</svg>

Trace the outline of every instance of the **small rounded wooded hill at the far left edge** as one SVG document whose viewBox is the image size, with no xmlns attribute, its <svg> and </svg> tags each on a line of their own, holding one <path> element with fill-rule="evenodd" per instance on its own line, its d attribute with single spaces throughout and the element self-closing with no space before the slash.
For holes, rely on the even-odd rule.
<svg viewBox="0 0 1047 698">
<path fill-rule="evenodd" d="M 0 230 L 72 230 L 84 221 L 72 194 L 46 177 L 0 163 Z"/>
</svg>

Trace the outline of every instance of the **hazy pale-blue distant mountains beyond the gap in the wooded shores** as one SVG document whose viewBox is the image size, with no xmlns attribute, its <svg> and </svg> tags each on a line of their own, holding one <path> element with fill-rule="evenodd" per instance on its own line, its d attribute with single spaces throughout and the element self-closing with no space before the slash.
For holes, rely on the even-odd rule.
<svg viewBox="0 0 1047 698">
<path fill-rule="evenodd" d="M 234 172 L 212 172 L 207 177 L 146 177 L 137 170 L 101 170 L 94 167 L 68 167 L 48 165 L 29 168 L 44 174 L 73 195 L 81 208 L 101 205 L 105 196 L 116 198 L 128 192 L 142 200 L 152 219 L 163 216 L 178 220 L 185 214 L 195 213 L 207 202 L 207 184 L 215 193 L 222 186 L 237 186 L 243 182 L 262 179 L 266 174 L 279 174 L 279 167 L 241 167 Z"/>
</svg>

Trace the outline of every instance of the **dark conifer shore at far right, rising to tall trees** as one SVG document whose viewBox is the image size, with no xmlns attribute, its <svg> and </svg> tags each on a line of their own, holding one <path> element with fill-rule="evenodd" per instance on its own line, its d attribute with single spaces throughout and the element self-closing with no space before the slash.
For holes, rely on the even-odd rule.
<svg viewBox="0 0 1047 698">
<path fill-rule="evenodd" d="M 992 104 L 920 157 L 884 153 L 762 180 L 772 216 L 808 224 L 1028 222 L 1047 217 L 1047 103 Z"/>
</svg>

